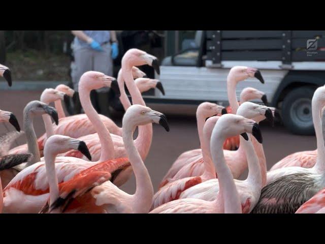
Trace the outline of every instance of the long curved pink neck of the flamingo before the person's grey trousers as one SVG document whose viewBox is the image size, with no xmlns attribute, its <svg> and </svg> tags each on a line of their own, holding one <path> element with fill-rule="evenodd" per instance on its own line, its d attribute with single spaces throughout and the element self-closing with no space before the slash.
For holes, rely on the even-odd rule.
<svg viewBox="0 0 325 244">
<path fill-rule="evenodd" d="M 111 135 L 90 102 L 90 89 L 80 82 L 79 96 L 80 103 L 100 138 L 102 150 L 99 162 L 114 159 L 115 152 Z"/>
</svg>

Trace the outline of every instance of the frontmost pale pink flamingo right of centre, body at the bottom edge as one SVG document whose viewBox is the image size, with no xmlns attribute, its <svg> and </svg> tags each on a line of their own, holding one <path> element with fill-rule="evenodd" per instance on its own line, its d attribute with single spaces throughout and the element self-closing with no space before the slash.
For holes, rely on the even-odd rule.
<svg viewBox="0 0 325 244">
<path fill-rule="evenodd" d="M 258 140 L 262 140 L 261 131 L 255 121 L 235 114 L 222 115 L 212 131 L 210 151 L 220 184 L 220 191 L 215 200 L 205 201 L 195 198 L 178 199 L 160 205 L 150 211 L 150 213 L 241 213 L 240 198 L 232 173 L 225 162 L 222 145 L 227 137 L 238 134 L 242 134 L 248 139 L 245 133 L 252 133 Z"/>
</svg>

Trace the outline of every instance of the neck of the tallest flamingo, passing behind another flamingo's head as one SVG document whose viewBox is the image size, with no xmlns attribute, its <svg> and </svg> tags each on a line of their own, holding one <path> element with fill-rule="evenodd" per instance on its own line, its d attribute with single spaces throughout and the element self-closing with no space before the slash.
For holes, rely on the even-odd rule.
<svg viewBox="0 0 325 244">
<path fill-rule="evenodd" d="M 127 67 L 122 68 L 122 77 L 124 78 L 127 89 L 132 97 L 133 104 L 140 104 L 146 106 L 141 93 L 136 86 L 133 76 L 132 69 L 128 69 Z M 123 84 L 124 85 L 124 84 Z M 135 145 L 139 150 L 141 158 L 144 160 L 150 150 L 151 141 L 152 141 L 152 124 L 147 124 L 145 126 L 139 126 L 139 134 L 137 139 L 135 139 Z"/>
</svg>

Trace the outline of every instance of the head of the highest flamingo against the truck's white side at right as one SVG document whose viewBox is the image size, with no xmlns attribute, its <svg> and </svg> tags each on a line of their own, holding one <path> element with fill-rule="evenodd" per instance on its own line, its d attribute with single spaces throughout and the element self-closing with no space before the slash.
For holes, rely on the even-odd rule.
<svg viewBox="0 0 325 244">
<path fill-rule="evenodd" d="M 235 66 L 235 67 L 231 68 L 231 70 L 229 71 L 228 77 L 230 77 L 230 76 L 237 83 L 239 81 L 255 77 L 256 79 L 261 81 L 261 83 L 264 84 L 264 79 L 262 77 L 261 71 L 255 69 L 255 68 L 250 68 L 250 67 L 246 67 L 246 66 Z"/>
</svg>

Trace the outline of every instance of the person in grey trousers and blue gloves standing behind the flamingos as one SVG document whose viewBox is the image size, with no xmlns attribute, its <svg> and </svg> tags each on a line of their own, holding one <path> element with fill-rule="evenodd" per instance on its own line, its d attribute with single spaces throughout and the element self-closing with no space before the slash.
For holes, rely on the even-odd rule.
<svg viewBox="0 0 325 244">
<path fill-rule="evenodd" d="M 74 70 L 73 85 L 78 90 L 78 83 L 83 73 L 99 71 L 113 76 L 113 60 L 118 55 L 118 45 L 115 31 L 71 31 L 75 36 L 73 42 Z M 91 103 L 101 114 L 109 115 L 108 87 L 92 90 Z M 75 113 L 81 113 L 79 97 L 75 101 Z"/>
</svg>

